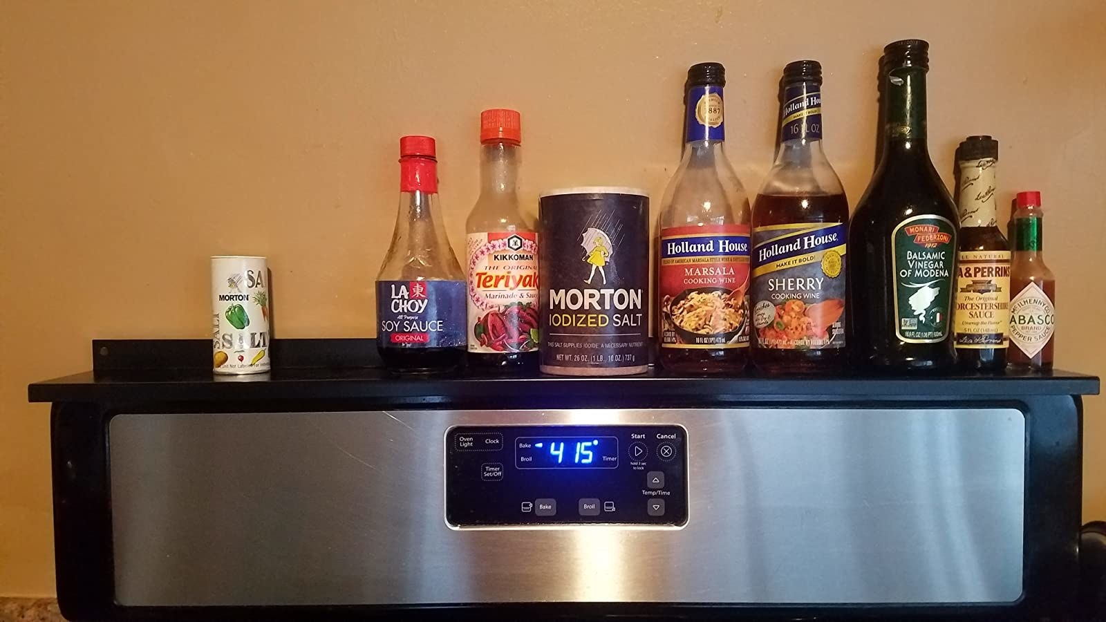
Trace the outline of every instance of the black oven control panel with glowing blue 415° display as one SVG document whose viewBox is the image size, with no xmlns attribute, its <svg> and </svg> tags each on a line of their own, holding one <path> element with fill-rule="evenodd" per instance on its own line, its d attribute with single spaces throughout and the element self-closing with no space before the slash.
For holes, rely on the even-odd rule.
<svg viewBox="0 0 1106 622">
<path fill-rule="evenodd" d="M 687 432 L 677 425 L 452 427 L 446 520 L 681 526 L 687 453 Z"/>
</svg>

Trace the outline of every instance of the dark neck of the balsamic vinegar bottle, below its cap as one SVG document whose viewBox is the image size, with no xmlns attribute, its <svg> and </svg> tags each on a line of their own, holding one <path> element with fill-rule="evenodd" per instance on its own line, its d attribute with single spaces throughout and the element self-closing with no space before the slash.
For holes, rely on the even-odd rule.
<svg viewBox="0 0 1106 622">
<path fill-rule="evenodd" d="M 929 156 L 926 146 L 926 70 L 891 68 L 886 75 L 884 157 L 896 154 Z"/>
</svg>

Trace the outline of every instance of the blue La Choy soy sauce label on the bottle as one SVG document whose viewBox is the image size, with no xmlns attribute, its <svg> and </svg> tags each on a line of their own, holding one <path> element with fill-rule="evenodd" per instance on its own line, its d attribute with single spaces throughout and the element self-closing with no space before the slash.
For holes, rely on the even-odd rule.
<svg viewBox="0 0 1106 622">
<path fill-rule="evenodd" d="M 382 345 L 465 345 L 463 281 L 376 281 L 376 339 Z"/>
</svg>

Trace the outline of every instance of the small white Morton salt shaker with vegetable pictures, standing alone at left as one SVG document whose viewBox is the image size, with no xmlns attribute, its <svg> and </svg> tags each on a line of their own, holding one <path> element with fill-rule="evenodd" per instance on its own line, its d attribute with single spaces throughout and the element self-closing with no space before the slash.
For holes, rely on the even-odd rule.
<svg viewBox="0 0 1106 622">
<path fill-rule="evenodd" d="M 211 348 L 217 374 L 269 371 L 269 269 L 264 257 L 211 258 Z"/>
</svg>

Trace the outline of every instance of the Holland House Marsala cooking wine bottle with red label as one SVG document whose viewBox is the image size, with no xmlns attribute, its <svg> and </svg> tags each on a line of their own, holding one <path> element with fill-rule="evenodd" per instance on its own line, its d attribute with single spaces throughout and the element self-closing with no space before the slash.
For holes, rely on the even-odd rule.
<svg viewBox="0 0 1106 622">
<path fill-rule="evenodd" d="M 749 351 L 749 198 L 723 142 L 726 70 L 699 63 L 685 84 L 684 156 L 661 201 L 660 363 L 735 373 Z"/>
</svg>

